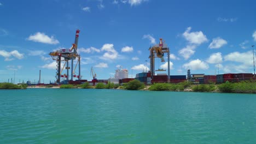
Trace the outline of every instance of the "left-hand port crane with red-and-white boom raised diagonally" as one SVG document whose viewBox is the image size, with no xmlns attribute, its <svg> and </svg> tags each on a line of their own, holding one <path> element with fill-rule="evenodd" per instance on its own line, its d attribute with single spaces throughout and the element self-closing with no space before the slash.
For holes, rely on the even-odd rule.
<svg viewBox="0 0 256 144">
<path fill-rule="evenodd" d="M 77 52 L 77 45 L 78 45 L 78 38 L 79 38 L 79 32 L 80 30 L 77 29 L 75 31 L 75 41 L 74 44 L 72 44 L 70 49 L 60 49 L 54 52 L 50 52 L 49 55 L 53 60 L 56 60 L 57 62 L 57 72 L 56 72 L 56 82 L 60 83 L 60 77 L 66 77 L 67 80 L 69 80 L 69 69 L 68 67 L 68 61 L 71 60 L 71 80 L 73 80 L 73 77 L 77 77 L 79 80 L 81 79 L 81 74 L 80 74 L 80 55 L 78 55 Z M 77 64 L 75 65 L 74 68 L 74 59 L 78 58 L 77 64 L 79 64 L 78 69 L 78 75 L 75 75 L 75 69 L 77 68 Z M 63 68 L 61 69 L 61 61 L 65 61 L 65 64 L 63 65 Z M 67 67 L 65 67 L 67 64 Z M 67 70 L 67 74 L 61 75 L 63 69 Z"/>
</svg>

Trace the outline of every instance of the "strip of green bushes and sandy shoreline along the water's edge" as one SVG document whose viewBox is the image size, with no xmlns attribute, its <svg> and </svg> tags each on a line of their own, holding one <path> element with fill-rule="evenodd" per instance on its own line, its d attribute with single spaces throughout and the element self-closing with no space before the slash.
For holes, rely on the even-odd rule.
<svg viewBox="0 0 256 144">
<path fill-rule="evenodd" d="M 1 83 L 0 83 L 1 84 Z M 5 83 L 6 84 L 6 83 Z M 1 86 L 1 85 L 0 85 Z M 22 86 L 10 85 L 6 89 L 21 89 Z M 98 83 L 96 86 L 90 86 L 89 83 L 82 85 L 60 85 L 60 86 L 28 86 L 26 88 L 95 88 L 95 89 L 128 89 L 142 91 L 171 91 L 171 92 L 221 92 L 221 93 L 256 93 L 256 82 L 243 81 L 238 83 L 225 82 L 219 85 L 199 84 L 193 85 L 185 81 L 177 84 L 173 83 L 154 83 L 153 85 L 144 86 L 144 83 L 137 80 L 125 83 L 123 86 L 114 85 L 114 83 Z M 4 89 L 1 88 L 0 89 Z"/>
</svg>

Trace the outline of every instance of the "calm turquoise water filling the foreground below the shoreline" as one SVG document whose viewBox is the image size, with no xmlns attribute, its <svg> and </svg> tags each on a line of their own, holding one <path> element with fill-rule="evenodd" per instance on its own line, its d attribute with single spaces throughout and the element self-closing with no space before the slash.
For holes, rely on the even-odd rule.
<svg viewBox="0 0 256 144">
<path fill-rule="evenodd" d="M 256 143 L 256 95 L 1 90 L 0 143 Z"/>
</svg>

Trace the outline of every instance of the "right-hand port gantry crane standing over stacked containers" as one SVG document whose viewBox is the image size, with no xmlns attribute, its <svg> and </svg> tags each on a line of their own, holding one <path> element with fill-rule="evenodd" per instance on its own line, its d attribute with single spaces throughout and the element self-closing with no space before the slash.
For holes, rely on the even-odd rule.
<svg viewBox="0 0 256 144">
<path fill-rule="evenodd" d="M 159 44 L 154 45 L 153 47 L 149 47 L 150 51 L 150 72 L 151 78 L 153 79 L 153 75 L 155 75 L 155 58 L 160 58 L 161 62 L 165 62 L 164 53 L 167 53 L 167 63 L 168 63 L 168 82 L 170 82 L 170 50 L 167 44 L 162 41 L 160 38 Z M 164 69 L 159 69 L 156 71 L 165 71 Z"/>
</svg>

